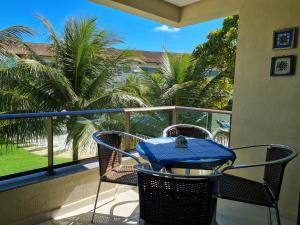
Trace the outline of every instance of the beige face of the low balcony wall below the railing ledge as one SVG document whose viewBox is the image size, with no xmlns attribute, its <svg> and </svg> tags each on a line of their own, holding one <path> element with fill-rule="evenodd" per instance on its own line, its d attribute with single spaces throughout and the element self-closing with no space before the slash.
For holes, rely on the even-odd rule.
<svg viewBox="0 0 300 225">
<path fill-rule="evenodd" d="M 1 192 L 0 224 L 37 224 L 92 204 L 98 174 L 98 169 L 92 169 Z"/>
</svg>

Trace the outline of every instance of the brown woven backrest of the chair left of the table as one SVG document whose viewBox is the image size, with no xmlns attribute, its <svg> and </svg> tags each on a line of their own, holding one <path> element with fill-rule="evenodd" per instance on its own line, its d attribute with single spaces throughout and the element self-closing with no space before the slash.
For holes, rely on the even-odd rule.
<svg viewBox="0 0 300 225">
<path fill-rule="evenodd" d="M 117 133 L 103 133 L 97 136 L 103 143 L 120 148 L 121 136 Z M 103 145 L 98 144 L 98 158 L 100 175 L 104 175 L 107 171 L 117 167 L 122 162 L 122 154 L 113 151 Z"/>
</svg>

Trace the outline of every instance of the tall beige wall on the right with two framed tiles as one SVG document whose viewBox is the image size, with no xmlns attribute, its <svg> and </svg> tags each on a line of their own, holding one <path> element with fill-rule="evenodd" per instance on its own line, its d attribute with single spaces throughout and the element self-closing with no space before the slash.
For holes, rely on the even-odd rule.
<svg viewBox="0 0 300 225">
<path fill-rule="evenodd" d="M 235 75 L 232 146 L 282 143 L 300 151 L 300 47 L 272 50 L 273 31 L 300 27 L 299 0 L 246 0 L 240 9 Z M 270 77 L 271 57 L 298 55 L 291 77 Z M 244 153 L 241 161 L 262 160 L 263 154 Z M 280 207 L 297 213 L 300 157 L 292 161 L 283 181 Z M 248 177 L 261 173 L 250 170 Z"/>
</svg>

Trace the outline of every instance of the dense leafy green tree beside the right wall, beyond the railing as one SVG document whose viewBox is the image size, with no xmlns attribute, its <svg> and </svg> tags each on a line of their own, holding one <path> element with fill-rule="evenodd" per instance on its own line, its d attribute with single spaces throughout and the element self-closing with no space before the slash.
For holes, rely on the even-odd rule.
<svg viewBox="0 0 300 225">
<path fill-rule="evenodd" d="M 231 110 L 238 20 L 238 16 L 226 17 L 223 27 L 211 31 L 207 42 L 198 45 L 193 52 L 194 74 L 205 76 L 211 71 L 218 72 L 197 94 L 194 104 L 200 107 Z"/>
</svg>

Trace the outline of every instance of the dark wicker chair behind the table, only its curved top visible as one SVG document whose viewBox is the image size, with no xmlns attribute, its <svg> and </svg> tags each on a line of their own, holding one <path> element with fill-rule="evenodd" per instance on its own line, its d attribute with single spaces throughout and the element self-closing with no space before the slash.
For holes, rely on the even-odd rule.
<svg viewBox="0 0 300 225">
<path fill-rule="evenodd" d="M 163 131 L 163 137 L 177 137 L 179 135 L 194 138 L 213 139 L 213 135 L 207 129 L 190 124 L 172 125 L 165 128 Z"/>
</svg>

